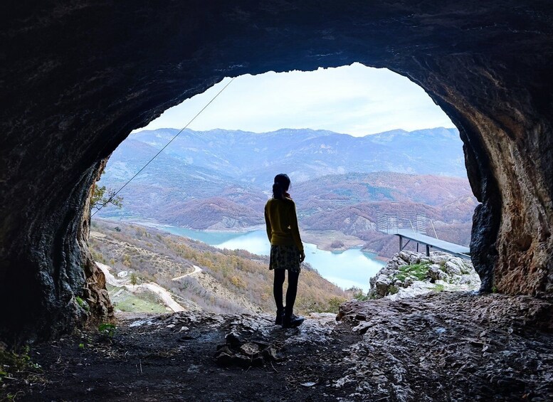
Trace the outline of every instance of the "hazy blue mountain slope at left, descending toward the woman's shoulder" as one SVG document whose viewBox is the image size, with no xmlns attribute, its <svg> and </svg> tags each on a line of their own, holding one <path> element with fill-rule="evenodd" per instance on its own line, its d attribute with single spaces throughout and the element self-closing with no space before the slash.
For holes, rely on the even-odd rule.
<svg viewBox="0 0 553 402">
<path fill-rule="evenodd" d="M 99 185 L 120 189 L 151 159 L 158 149 L 152 144 L 127 139 L 113 152 Z M 169 154 L 159 154 L 121 194 L 124 208 L 109 208 L 99 216 L 144 216 L 167 221 L 165 216 L 186 211 L 186 201 L 222 196 L 234 203 L 263 205 L 266 197 L 256 186 L 236 181 L 209 166 L 184 164 Z M 184 209 L 183 209 L 184 208 Z"/>
</svg>

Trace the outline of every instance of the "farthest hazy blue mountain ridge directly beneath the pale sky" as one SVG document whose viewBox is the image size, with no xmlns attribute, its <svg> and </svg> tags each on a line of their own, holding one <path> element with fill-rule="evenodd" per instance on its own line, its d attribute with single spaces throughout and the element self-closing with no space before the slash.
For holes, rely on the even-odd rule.
<svg viewBox="0 0 553 402">
<path fill-rule="evenodd" d="M 120 145 L 137 141 L 161 149 L 179 130 L 144 130 Z M 293 181 L 352 171 L 396 171 L 409 174 L 465 177 L 462 142 L 457 129 L 394 130 L 352 137 L 325 130 L 280 129 L 253 133 L 214 129 L 185 129 L 163 154 L 187 169 L 208 169 L 240 182 L 267 186 L 275 172 L 287 172 Z M 112 158 L 117 158 L 114 154 Z"/>
</svg>

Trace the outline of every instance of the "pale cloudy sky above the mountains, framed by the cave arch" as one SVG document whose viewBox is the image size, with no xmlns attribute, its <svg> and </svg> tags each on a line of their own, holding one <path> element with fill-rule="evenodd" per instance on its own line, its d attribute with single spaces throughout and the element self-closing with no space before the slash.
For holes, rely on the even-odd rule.
<svg viewBox="0 0 553 402">
<path fill-rule="evenodd" d="M 225 78 L 166 110 L 141 129 L 185 127 L 230 80 Z M 421 87 L 386 68 L 359 63 L 310 72 L 241 75 L 188 126 L 199 131 L 327 129 L 354 137 L 433 127 L 455 126 Z"/>
</svg>

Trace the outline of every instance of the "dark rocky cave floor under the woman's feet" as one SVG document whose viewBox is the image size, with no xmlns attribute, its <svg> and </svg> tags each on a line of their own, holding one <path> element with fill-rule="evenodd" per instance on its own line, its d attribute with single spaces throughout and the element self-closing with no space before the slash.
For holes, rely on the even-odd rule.
<svg viewBox="0 0 553 402">
<path fill-rule="evenodd" d="M 553 401 L 547 300 L 442 292 L 349 302 L 339 317 L 282 329 L 269 315 L 119 314 L 111 336 L 91 328 L 35 345 L 41 370 L 0 391 L 16 401 Z"/>
</svg>

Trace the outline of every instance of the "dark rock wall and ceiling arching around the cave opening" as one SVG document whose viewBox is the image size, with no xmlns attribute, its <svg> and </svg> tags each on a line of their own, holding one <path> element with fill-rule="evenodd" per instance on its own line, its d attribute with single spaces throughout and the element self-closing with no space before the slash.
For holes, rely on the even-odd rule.
<svg viewBox="0 0 553 402">
<path fill-rule="evenodd" d="M 548 1 L 54 0 L 0 22 L 1 337 L 82 320 L 75 295 L 102 287 L 85 202 L 132 129 L 225 76 L 356 61 L 406 75 L 460 129 L 484 289 L 553 292 Z"/>
</svg>

